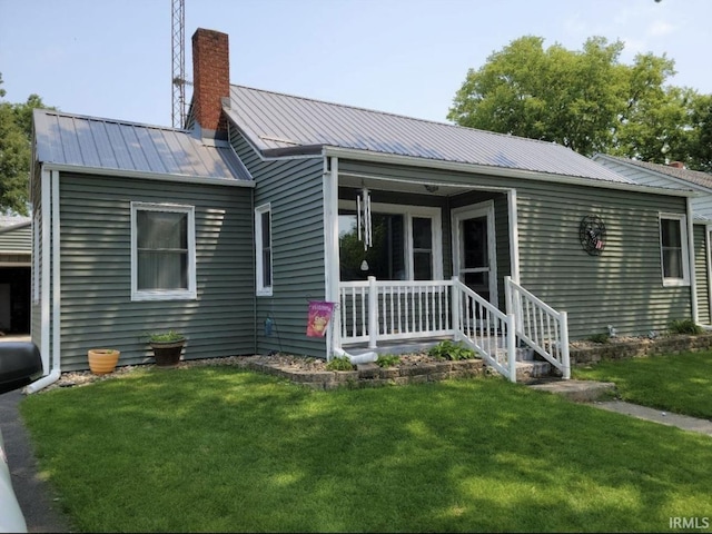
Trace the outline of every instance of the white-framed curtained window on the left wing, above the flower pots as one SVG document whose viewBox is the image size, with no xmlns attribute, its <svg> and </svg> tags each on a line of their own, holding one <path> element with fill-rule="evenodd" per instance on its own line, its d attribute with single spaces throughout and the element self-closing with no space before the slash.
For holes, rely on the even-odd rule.
<svg viewBox="0 0 712 534">
<path fill-rule="evenodd" d="M 131 299 L 196 298 L 192 206 L 131 202 Z"/>
</svg>

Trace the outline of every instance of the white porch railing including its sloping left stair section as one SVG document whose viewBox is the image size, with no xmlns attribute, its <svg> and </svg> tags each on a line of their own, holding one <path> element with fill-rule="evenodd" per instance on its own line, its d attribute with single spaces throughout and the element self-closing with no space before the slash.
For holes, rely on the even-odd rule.
<svg viewBox="0 0 712 534">
<path fill-rule="evenodd" d="M 497 372 L 516 380 L 514 316 L 451 280 L 376 280 L 339 284 L 340 344 L 452 336 Z"/>
</svg>

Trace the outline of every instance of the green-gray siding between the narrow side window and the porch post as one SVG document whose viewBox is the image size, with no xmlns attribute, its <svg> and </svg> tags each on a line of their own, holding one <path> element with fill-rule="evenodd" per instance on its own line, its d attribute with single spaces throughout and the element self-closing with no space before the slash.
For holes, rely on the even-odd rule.
<svg viewBox="0 0 712 534">
<path fill-rule="evenodd" d="M 236 131 L 230 142 L 255 178 L 255 206 L 271 205 L 273 295 L 257 297 L 257 352 L 325 357 L 325 339 L 306 336 L 308 303 L 325 297 L 324 160 L 264 160 Z"/>
</svg>

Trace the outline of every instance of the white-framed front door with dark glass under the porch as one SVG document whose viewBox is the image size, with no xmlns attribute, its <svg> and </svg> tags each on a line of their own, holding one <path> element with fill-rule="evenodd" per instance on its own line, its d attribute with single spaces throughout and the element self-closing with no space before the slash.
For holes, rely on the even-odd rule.
<svg viewBox="0 0 712 534">
<path fill-rule="evenodd" d="M 473 291 L 497 305 L 494 204 L 453 210 L 454 274 Z"/>
</svg>

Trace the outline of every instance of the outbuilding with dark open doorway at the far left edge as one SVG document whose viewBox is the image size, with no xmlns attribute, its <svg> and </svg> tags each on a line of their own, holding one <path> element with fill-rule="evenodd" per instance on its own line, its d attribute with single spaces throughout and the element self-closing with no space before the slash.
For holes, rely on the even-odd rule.
<svg viewBox="0 0 712 534">
<path fill-rule="evenodd" d="M 0 335 L 30 332 L 29 217 L 0 217 Z"/>
</svg>

